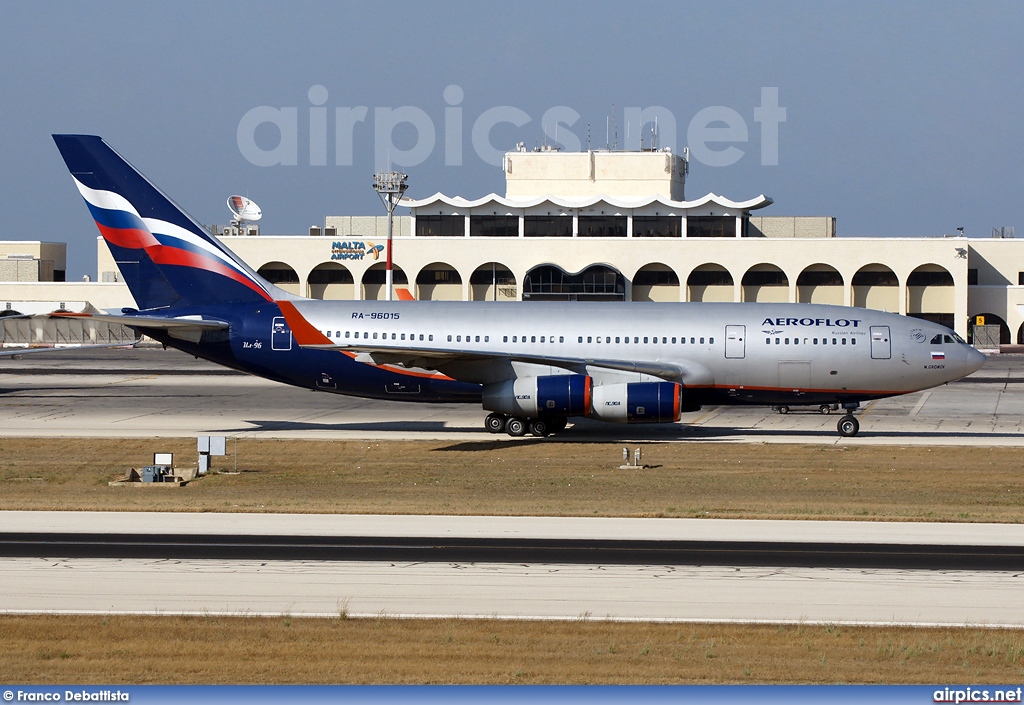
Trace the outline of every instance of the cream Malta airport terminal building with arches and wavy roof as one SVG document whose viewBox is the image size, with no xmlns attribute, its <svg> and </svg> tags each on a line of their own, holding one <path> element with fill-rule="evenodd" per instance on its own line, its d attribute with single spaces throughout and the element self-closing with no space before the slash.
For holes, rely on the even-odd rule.
<svg viewBox="0 0 1024 705">
<path fill-rule="evenodd" d="M 833 217 L 764 214 L 765 196 L 686 200 L 688 163 L 669 151 L 520 149 L 503 169 L 504 196 L 401 202 L 396 286 L 423 300 L 833 303 L 928 319 L 965 337 L 983 316 L 998 331 L 986 328 L 979 346 L 1024 343 L 1024 242 L 841 238 Z M 383 299 L 386 222 L 329 215 L 303 236 L 215 232 L 288 291 Z M 97 248 L 97 281 L 62 282 L 62 244 L 0 243 L 0 310 L 133 306 L 101 239 Z"/>
</svg>

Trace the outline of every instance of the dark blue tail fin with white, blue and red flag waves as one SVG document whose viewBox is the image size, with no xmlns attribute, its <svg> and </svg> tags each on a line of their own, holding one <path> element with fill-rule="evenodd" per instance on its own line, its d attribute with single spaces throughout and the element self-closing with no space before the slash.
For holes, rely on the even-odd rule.
<svg viewBox="0 0 1024 705">
<path fill-rule="evenodd" d="M 53 140 L 139 308 L 274 298 L 272 285 L 100 137 Z"/>
</svg>

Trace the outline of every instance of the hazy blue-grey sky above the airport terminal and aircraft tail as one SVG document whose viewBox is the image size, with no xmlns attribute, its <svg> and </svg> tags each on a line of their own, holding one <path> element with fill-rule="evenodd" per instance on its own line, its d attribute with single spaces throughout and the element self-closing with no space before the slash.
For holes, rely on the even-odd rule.
<svg viewBox="0 0 1024 705">
<path fill-rule="evenodd" d="M 401 166 L 410 196 L 503 193 L 472 142 L 502 106 L 529 121 L 497 125 L 500 150 L 551 141 L 542 117 L 558 107 L 580 115 L 559 137 L 586 144 L 589 123 L 595 148 L 612 106 L 621 146 L 624 109 L 659 106 L 677 149 L 701 111 L 724 110 L 746 139 L 708 149 L 742 154 L 694 159 L 688 198 L 764 193 L 775 200 L 764 214 L 835 215 L 841 237 L 987 237 L 1024 229 L 1022 30 L 1016 2 L 0 0 L 0 239 L 67 241 L 69 279 L 95 275 L 96 232 L 52 132 L 102 135 L 201 222 L 225 222 L 240 193 L 262 207 L 265 234 L 301 234 L 325 215 L 383 213 L 371 188 L 380 144 L 415 153 Z M 462 91 L 454 107 L 449 86 Z M 785 110 L 777 165 L 763 163 L 755 121 L 763 88 Z M 294 165 L 247 158 L 240 123 L 260 107 L 295 109 Z M 358 107 L 351 163 L 339 163 L 336 110 Z M 409 124 L 378 129 L 402 107 L 429 119 L 432 150 Z M 278 139 L 263 123 L 247 143 L 272 152 Z M 450 142 L 459 164 L 445 164 Z M 311 143 L 327 164 L 310 163 Z"/>
</svg>

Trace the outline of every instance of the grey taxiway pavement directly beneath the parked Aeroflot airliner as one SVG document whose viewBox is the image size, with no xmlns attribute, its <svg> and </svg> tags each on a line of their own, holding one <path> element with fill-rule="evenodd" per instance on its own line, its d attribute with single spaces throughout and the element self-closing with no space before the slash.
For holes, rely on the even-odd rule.
<svg viewBox="0 0 1024 705">
<path fill-rule="evenodd" d="M 374 440 L 479 439 L 475 405 L 423 405 L 312 392 L 162 348 L 60 351 L 0 360 L 5 436 Z M 581 419 L 580 441 L 1024 446 L 1024 356 L 994 356 L 971 377 L 859 412 L 842 439 L 838 416 L 764 407 L 709 407 L 678 424 L 618 426 Z M 505 438 L 505 437 L 500 437 Z M 510 442 L 513 442 L 510 440 Z"/>
</svg>

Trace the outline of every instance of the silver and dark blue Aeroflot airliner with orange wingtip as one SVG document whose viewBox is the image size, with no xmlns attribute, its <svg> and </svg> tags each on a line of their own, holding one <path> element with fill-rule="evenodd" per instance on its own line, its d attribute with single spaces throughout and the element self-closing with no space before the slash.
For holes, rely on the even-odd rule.
<svg viewBox="0 0 1024 705">
<path fill-rule="evenodd" d="M 949 382 L 951 330 L 807 303 L 324 301 L 257 275 L 101 138 L 54 135 L 138 309 L 98 318 L 310 389 L 481 404 L 487 430 L 672 423 L 700 405 L 842 405 Z"/>
</svg>

